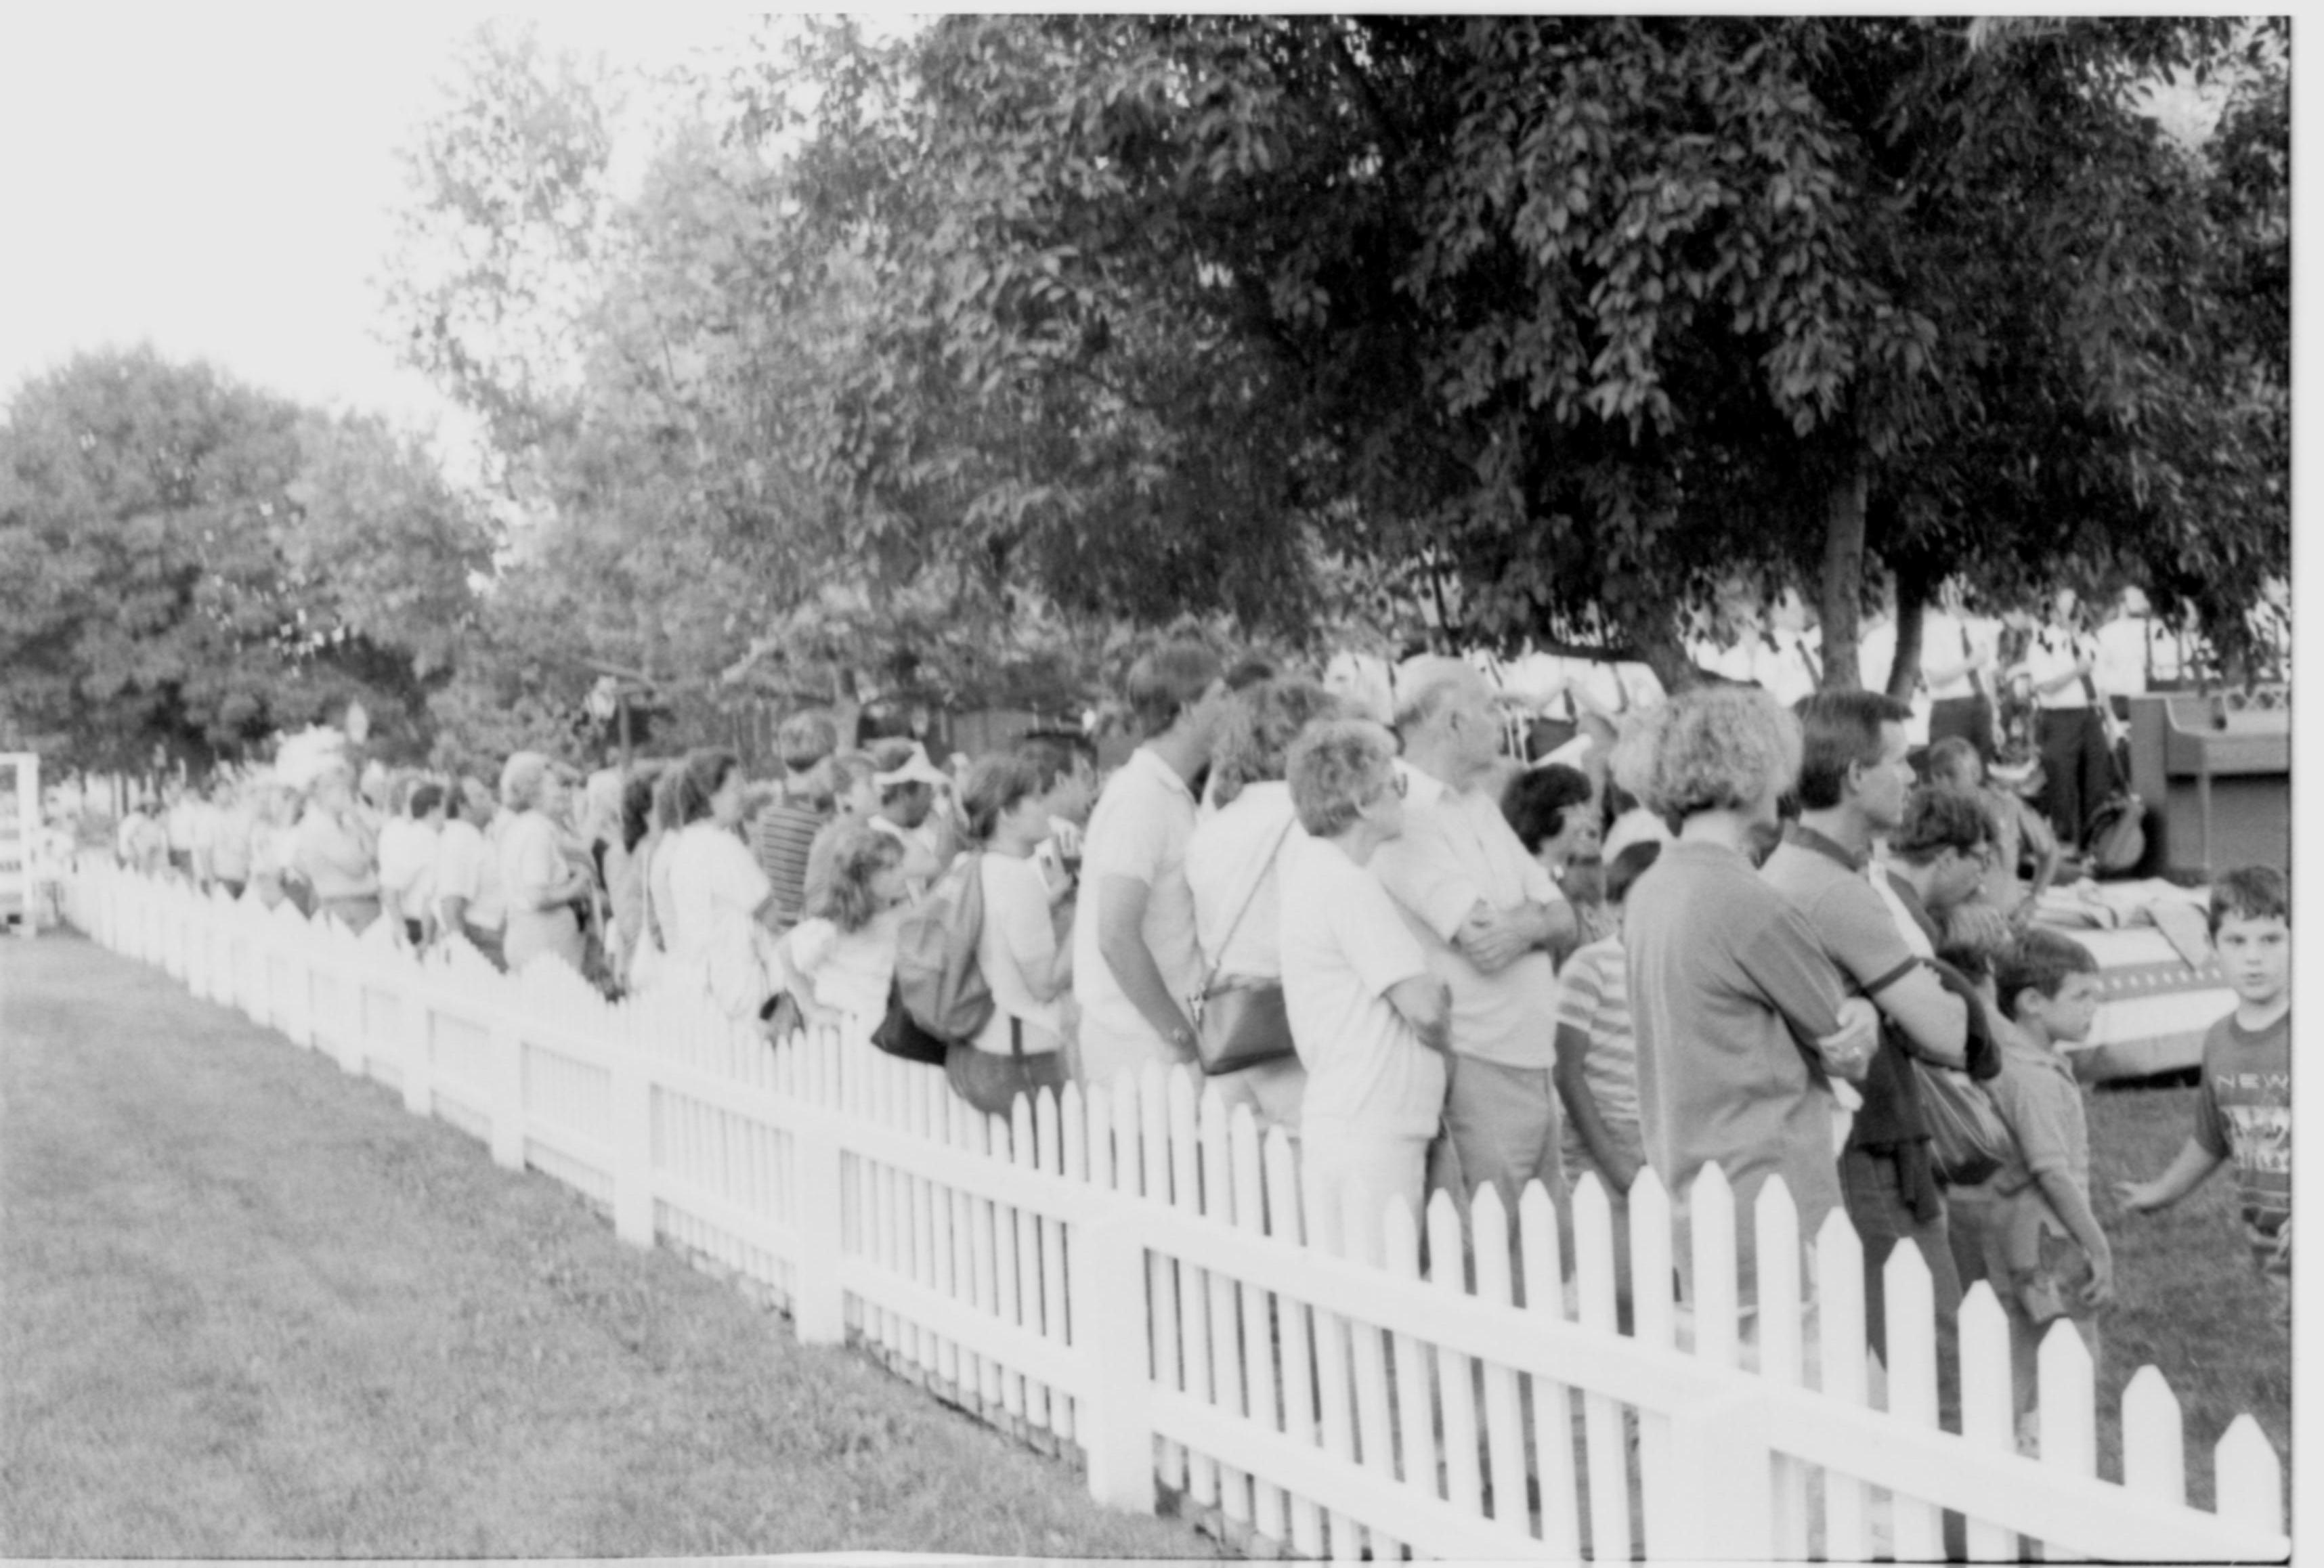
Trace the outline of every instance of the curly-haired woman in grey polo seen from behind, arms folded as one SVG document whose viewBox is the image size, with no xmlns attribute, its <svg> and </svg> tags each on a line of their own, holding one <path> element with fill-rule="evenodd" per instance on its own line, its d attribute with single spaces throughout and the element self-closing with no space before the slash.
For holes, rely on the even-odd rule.
<svg viewBox="0 0 2324 1568">
<path fill-rule="evenodd" d="M 1752 866 L 1799 753 L 1799 720 L 1764 690 L 1697 688 L 1638 713 L 1613 755 L 1622 787 L 1678 825 L 1624 911 L 1645 1157 L 1676 1213 L 1720 1166 L 1745 1254 L 1771 1175 L 1803 1240 L 1841 1206 L 1841 1099 L 1878 1038 L 1871 1004 L 1843 997 L 1808 920 Z"/>
</svg>

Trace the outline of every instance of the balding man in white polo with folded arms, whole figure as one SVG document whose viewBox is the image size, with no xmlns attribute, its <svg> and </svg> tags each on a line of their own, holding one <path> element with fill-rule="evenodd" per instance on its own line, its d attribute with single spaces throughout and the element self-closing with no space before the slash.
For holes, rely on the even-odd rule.
<svg viewBox="0 0 2324 1568">
<path fill-rule="evenodd" d="M 1404 834 L 1371 869 L 1452 990 L 1446 1136 L 1457 1196 L 1490 1180 L 1515 1220 L 1525 1185 L 1541 1178 L 1562 1208 L 1550 948 L 1573 936 L 1573 911 L 1490 790 L 1501 725 L 1485 681 L 1459 660 L 1408 660 L 1397 732 L 1411 774 Z"/>
</svg>

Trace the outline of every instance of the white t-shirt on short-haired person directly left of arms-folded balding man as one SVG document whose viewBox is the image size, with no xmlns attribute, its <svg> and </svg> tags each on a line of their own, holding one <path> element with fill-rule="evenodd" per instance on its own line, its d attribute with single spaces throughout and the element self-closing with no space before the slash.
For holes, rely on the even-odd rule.
<svg viewBox="0 0 2324 1568">
<path fill-rule="evenodd" d="M 1308 1071 L 1301 1129 L 1427 1138 L 1446 1103 L 1446 1064 L 1387 1001 L 1429 973 L 1420 941 L 1380 880 L 1336 843 L 1283 846 L 1278 945 L 1283 1008 Z"/>
</svg>

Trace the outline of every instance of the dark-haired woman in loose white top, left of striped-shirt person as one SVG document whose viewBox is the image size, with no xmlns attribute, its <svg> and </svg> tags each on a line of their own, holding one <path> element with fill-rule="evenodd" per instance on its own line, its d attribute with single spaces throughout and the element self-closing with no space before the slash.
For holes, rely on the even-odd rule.
<svg viewBox="0 0 2324 1568">
<path fill-rule="evenodd" d="M 741 757 L 697 750 L 676 776 L 676 834 L 667 857 L 667 904 L 658 908 L 669 971 L 700 985 L 718 1010 L 758 1022 L 774 997 L 772 934 L 774 883 L 741 841 Z M 660 897 L 651 887 L 648 897 Z"/>
</svg>

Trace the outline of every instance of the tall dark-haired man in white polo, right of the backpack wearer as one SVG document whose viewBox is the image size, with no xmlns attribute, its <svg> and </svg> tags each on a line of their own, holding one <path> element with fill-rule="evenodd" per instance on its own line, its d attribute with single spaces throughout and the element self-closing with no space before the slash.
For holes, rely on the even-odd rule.
<svg viewBox="0 0 2324 1568">
<path fill-rule="evenodd" d="M 1215 653 L 1162 643 L 1129 667 L 1129 711 L 1146 743 L 1113 771 L 1081 839 L 1074 1001 L 1081 1080 L 1111 1083 L 1148 1062 L 1195 1062 L 1202 990 L 1195 892 L 1195 776 L 1211 760 L 1227 685 Z"/>
</svg>

